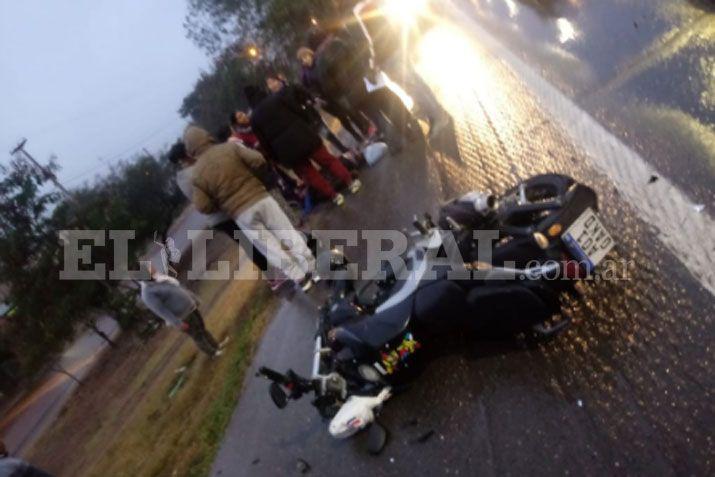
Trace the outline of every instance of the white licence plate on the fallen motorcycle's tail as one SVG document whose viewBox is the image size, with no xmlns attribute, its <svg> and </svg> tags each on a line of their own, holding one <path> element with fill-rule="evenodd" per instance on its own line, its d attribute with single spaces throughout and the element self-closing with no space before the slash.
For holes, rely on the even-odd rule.
<svg viewBox="0 0 715 477">
<path fill-rule="evenodd" d="M 561 238 L 574 258 L 584 263 L 589 273 L 615 246 L 613 237 L 590 207 Z"/>
</svg>

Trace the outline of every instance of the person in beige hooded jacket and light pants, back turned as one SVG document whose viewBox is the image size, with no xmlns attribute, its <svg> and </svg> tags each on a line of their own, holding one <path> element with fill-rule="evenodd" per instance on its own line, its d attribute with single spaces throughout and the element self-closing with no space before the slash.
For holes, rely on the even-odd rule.
<svg viewBox="0 0 715 477">
<path fill-rule="evenodd" d="M 315 258 L 255 176 L 266 164 L 263 155 L 241 144 L 215 144 L 209 133 L 197 126 L 186 128 L 184 145 L 196 159 L 192 201 L 199 212 L 221 211 L 233 217 L 268 263 L 307 291 L 313 284 Z M 281 242 L 289 245 L 287 249 Z"/>
</svg>

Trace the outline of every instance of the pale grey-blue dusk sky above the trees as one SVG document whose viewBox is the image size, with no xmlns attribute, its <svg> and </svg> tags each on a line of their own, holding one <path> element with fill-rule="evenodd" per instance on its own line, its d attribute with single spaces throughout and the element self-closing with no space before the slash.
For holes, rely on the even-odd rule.
<svg viewBox="0 0 715 477">
<path fill-rule="evenodd" d="M 22 137 L 56 154 L 70 187 L 173 142 L 208 59 L 184 35 L 185 0 L 0 3 L 0 164 Z"/>
</svg>

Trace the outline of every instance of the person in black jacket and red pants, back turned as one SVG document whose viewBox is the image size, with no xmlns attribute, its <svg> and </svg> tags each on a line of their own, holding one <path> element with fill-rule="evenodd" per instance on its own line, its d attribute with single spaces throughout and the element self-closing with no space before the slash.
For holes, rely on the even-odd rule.
<svg viewBox="0 0 715 477">
<path fill-rule="evenodd" d="M 258 103 L 251 115 L 251 126 L 268 155 L 283 167 L 293 169 L 315 192 L 337 205 L 345 197 L 322 175 L 329 172 L 351 193 L 362 184 L 330 154 L 311 126 L 311 112 L 306 106 L 310 93 L 298 85 L 287 85 L 279 74 L 269 74 L 266 86 L 271 94 Z M 318 171 L 313 162 L 318 164 Z"/>
</svg>

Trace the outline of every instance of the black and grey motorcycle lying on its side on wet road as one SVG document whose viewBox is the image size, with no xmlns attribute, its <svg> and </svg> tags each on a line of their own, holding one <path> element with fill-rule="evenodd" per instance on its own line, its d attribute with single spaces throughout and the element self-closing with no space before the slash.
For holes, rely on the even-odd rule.
<svg viewBox="0 0 715 477">
<path fill-rule="evenodd" d="M 260 369 L 272 381 L 273 402 L 282 409 L 313 394 L 331 420 L 330 434 L 346 438 L 375 420 L 421 351 L 446 332 L 555 337 L 570 325 L 560 296 L 573 293 L 614 247 L 597 210 L 592 189 L 548 174 L 500 197 L 466 194 L 441 208 L 439 226 L 428 215 L 415 220 L 405 270 L 386 267 L 359 286 L 333 284 L 320 310 L 310 378 Z M 479 230 L 497 231 L 489 262 Z M 454 279 L 455 270 L 469 278 Z"/>
</svg>

